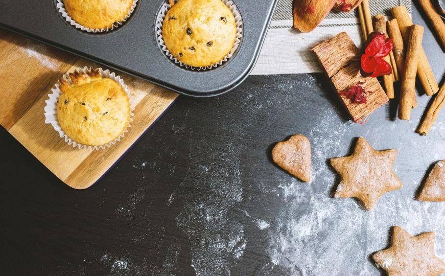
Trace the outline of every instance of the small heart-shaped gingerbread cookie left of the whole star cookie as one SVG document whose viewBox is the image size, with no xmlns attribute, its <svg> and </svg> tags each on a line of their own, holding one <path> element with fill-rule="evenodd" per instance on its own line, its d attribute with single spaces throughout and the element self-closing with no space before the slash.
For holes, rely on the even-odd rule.
<svg viewBox="0 0 445 276">
<path fill-rule="evenodd" d="M 293 135 L 273 147 L 272 159 L 278 166 L 302 181 L 311 180 L 311 143 L 304 135 Z"/>
</svg>

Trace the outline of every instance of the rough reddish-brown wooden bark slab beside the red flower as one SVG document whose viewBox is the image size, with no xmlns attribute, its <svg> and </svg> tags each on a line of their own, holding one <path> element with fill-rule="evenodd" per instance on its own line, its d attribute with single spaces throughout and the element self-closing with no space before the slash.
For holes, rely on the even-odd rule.
<svg viewBox="0 0 445 276">
<path fill-rule="evenodd" d="M 374 110 L 389 101 L 377 78 L 365 78 L 360 74 L 360 51 L 346 33 L 339 33 L 315 45 L 312 52 L 355 122 L 364 122 Z M 370 92 L 366 104 L 353 103 L 340 95 L 358 83 Z"/>
</svg>

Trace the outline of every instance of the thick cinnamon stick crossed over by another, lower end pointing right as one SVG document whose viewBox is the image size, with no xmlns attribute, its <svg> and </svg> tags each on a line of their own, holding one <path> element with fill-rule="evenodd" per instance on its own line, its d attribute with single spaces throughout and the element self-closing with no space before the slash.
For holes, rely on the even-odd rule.
<svg viewBox="0 0 445 276">
<path fill-rule="evenodd" d="M 392 8 L 391 12 L 395 19 L 397 19 L 397 24 L 399 24 L 399 29 L 402 33 L 403 40 L 405 43 L 407 43 L 409 39 L 409 27 L 413 25 L 408 11 L 406 10 L 405 6 L 400 6 Z M 439 86 L 434 78 L 433 71 L 431 70 L 430 63 L 428 62 L 428 58 L 423 47 L 421 47 L 419 51 L 417 76 L 419 77 L 420 83 L 424 87 L 425 93 L 428 96 L 435 94 L 439 90 Z"/>
</svg>

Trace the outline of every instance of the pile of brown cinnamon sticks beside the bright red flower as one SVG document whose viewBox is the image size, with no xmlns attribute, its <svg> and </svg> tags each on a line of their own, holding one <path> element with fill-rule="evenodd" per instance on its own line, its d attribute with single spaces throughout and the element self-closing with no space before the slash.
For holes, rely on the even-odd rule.
<svg viewBox="0 0 445 276">
<path fill-rule="evenodd" d="M 428 0 L 420 2 L 422 2 L 421 5 L 424 9 L 430 9 L 429 6 L 424 7 L 426 6 L 425 3 L 429 2 Z M 368 0 L 363 0 L 359 5 L 358 13 L 365 43 L 367 36 L 373 31 L 386 34 L 392 38 L 393 51 L 390 56 L 386 57 L 386 61 L 391 64 L 393 74 L 392 76 L 383 77 L 384 88 L 388 98 L 393 99 L 395 96 L 393 82 L 399 79 L 402 81 L 399 119 L 410 120 L 411 109 L 417 106 L 416 77 L 428 96 L 436 94 L 439 90 L 430 63 L 422 47 L 424 27 L 413 25 L 404 6 L 392 8 L 391 13 L 394 19 L 388 22 L 386 22 L 386 18 L 383 15 L 374 16 L 374 21 L 372 21 Z M 443 22 L 441 21 L 440 23 Z M 437 25 L 434 26 L 436 29 L 443 29 L 441 24 L 437 23 L 435 25 Z M 442 31 L 439 32 L 439 35 L 442 38 Z M 417 130 L 418 133 L 423 135 L 428 133 L 444 102 L 445 85 L 440 89 L 439 95 L 437 95 L 430 106 Z"/>
</svg>

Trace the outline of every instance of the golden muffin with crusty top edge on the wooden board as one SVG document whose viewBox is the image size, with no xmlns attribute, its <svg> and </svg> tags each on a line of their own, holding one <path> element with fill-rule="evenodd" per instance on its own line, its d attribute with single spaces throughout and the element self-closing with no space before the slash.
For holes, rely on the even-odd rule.
<svg viewBox="0 0 445 276">
<path fill-rule="evenodd" d="M 57 119 L 73 141 L 86 146 L 106 145 L 118 138 L 130 123 L 131 107 L 124 88 L 99 69 L 69 74 L 60 80 Z"/>
</svg>

